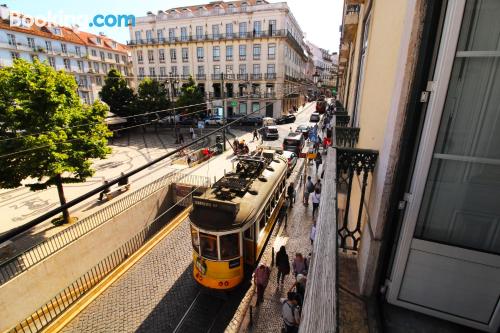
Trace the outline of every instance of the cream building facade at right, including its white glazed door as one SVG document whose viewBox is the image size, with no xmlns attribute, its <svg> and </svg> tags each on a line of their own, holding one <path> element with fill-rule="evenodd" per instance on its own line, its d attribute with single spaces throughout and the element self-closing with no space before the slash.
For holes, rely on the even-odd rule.
<svg viewBox="0 0 500 333">
<path fill-rule="evenodd" d="M 500 2 L 345 0 L 343 14 L 337 134 L 368 176 L 339 199 L 339 237 L 359 292 L 430 316 L 427 331 L 498 332 Z"/>
</svg>

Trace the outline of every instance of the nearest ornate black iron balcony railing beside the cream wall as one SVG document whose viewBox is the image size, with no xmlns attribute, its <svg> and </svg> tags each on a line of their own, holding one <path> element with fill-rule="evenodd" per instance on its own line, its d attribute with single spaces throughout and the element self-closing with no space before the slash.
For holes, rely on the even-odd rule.
<svg viewBox="0 0 500 333">
<path fill-rule="evenodd" d="M 345 195 L 345 207 L 337 209 L 339 248 L 358 251 L 361 240 L 363 206 L 368 187 L 368 176 L 375 169 L 378 151 L 359 148 L 336 148 L 336 150 L 337 197 L 339 197 L 339 194 Z M 351 194 L 355 175 L 361 177 L 359 206 L 357 216 L 350 219 Z M 356 195 L 357 197 L 358 195 Z"/>
</svg>

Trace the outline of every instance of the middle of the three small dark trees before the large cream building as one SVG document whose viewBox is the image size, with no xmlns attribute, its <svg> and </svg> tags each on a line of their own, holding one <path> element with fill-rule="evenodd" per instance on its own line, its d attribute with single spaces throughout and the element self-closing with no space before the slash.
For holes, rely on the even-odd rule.
<svg viewBox="0 0 500 333">
<path fill-rule="evenodd" d="M 157 80 L 144 79 L 139 84 L 137 96 L 137 110 L 139 113 L 165 110 L 170 101 L 167 98 L 167 90 Z M 165 113 L 161 113 L 163 115 Z"/>
</svg>

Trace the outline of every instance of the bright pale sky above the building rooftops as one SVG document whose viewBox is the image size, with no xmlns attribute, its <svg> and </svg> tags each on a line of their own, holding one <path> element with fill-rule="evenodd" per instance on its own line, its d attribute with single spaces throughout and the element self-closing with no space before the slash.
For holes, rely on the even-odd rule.
<svg viewBox="0 0 500 333">
<path fill-rule="evenodd" d="M 66 17 L 67 21 L 76 21 L 76 17 L 94 17 L 95 15 L 135 15 L 145 16 L 147 11 L 156 13 L 159 9 L 182 7 L 208 3 L 211 0 L 15 0 L 5 2 L 11 10 L 38 17 Z M 280 2 L 268 0 L 271 3 Z M 337 52 L 339 48 L 339 26 L 342 20 L 343 0 L 288 0 L 293 16 L 299 22 L 307 40 L 313 44 Z M 60 19 L 56 20 L 57 22 Z M 89 22 L 87 19 L 80 21 Z M 74 24 L 69 22 L 68 25 Z M 83 31 L 104 32 L 107 36 L 125 43 L 130 39 L 128 28 L 92 27 L 80 25 Z"/>
</svg>

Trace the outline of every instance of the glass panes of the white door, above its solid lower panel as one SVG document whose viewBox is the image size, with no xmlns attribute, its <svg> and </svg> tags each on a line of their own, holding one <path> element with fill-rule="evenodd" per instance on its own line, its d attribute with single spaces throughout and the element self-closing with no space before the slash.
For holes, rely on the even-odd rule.
<svg viewBox="0 0 500 333">
<path fill-rule="evenodd" d="M 415 237 L 500 254 L 500 2 L 467 1 Z"/>
</svg>

